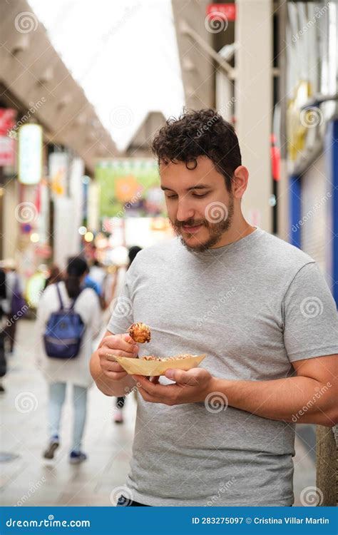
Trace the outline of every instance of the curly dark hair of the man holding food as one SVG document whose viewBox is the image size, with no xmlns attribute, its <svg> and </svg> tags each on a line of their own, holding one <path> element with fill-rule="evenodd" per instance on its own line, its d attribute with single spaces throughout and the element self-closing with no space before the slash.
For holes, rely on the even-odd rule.
<svg viewBox="0 0 338 535">
<path fill-rule="evenodd" d="M 240 146 L 234 127 L 211 108 L 187 110 L 176 119 L 170 117 L 155 134 L 151 146 L 158 163 L 185 162 L 197 167 L 198 156 L 208 156 L 231 190 L 235 169 L 242 165 Z"/>
</svg>

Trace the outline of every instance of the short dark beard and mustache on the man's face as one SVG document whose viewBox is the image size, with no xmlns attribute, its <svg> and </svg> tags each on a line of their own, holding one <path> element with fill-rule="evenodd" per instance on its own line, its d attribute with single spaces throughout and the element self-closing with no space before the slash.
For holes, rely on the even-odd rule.
<svg viewBox="0 0 338 535">
<path fill-rule="evenodd" d="M 173 221 L 170 221 L 170 225 L 172 226 L 175 234 L 179 236 L 182 244 L 185 246 L 185 248 L 190 251 L 191 253 L 203 253 L 203 251 L 206 251 L 214 245 L 216 245 L 220 239 L 222 238 L 222 235 L 230 229 L 232 225 L 232 219 L 234 215 L 234 202 L 233 197 L 230 196 L 229 205 L 227 206 L 227 218 L 225 220 L 220 221 L 219 223 L 210 223 L 208 220 L 199 220 L 195 221 L 193 219 L 188 219 L 185 221 L 178 221 L 175 220 L 175 223 Z M 185 243 L 185 240 L 182 235 L 182 227 L 186 226 L 198 226 L 198 225 L 204 225 L 206 228 L 208 228 L 210 232 L 210 238 L 206 240 L 204 243 L 200 243 L 199 245 L 194 245 L 194 247 L 191 247 L 187 243 Z"/>
</svg>

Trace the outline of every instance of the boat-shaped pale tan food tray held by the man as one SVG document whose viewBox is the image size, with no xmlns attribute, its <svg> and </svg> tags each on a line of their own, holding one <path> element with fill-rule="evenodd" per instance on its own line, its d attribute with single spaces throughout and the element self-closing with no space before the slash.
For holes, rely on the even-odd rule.
<svg viewBox="0 0 338 535">
<path fill-rule="evenodd" d="M 145 375 L 148 377 L 155 377 L 157 375 L 164 375 L 165 370 L 190 370 L 198 367 L 206 355 L 192 355 L 186 359 L 158 361 L 158 360 L 143 360 L 134 359 L 132 357 L 114 357 L 128 374 Z"/>
</svg>

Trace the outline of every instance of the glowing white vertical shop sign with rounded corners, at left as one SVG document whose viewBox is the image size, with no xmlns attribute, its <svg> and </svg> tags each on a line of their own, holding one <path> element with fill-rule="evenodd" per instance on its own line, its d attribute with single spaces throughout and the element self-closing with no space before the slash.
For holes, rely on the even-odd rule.
<svg viewBox="0 0 338 535">
<path fill-rule="evenodd" d="M 39 184 L 42 176 L 42 127 L 24 124 L 19 128 L 19 182 Z"/>
</svg>

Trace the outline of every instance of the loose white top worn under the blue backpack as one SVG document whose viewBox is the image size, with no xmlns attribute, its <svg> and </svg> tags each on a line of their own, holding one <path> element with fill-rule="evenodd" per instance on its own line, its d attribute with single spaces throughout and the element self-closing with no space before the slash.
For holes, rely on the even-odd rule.
<svg viewBox="0 0 338 535">
<path fill-rule="evenodd" d="M 72 300 L 68 297 L 66 285 L 59 282 L 63 306 L 70 307 Z M 86 325 L 83 334 L 81 350 L 78 356 L 71 360 L 61 360 L 48 357 L 43 346 L 43 334 L 46 322 L 52 312 L 60 307 L 56 285 L 48 286 L 43 292 L 37 311 L 36 321 L 36 360 L 48 382 L 71 382 L 81 387 L 89 387 L 93 382 L 89 371 L 89 361 L 93 348 L 93 339 L 101 329 L 101 308 L 96 292 L 85 288 L 78 296 L 74 310 L 81 315 Z"/>
</svg>

